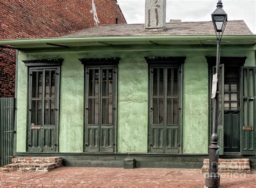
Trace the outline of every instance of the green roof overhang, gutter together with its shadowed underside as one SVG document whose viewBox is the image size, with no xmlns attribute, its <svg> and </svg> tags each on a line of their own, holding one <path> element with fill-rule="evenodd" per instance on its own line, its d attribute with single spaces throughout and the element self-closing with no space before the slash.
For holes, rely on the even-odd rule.
<svg viewBox="0 0 256 188">
<path fill-rule="evenodd" d="M 191 36 L 104 36 L 104 37 L 59 37 L 59 38 L 35 38 L 35 39 L 8 39 L 0 40 L 0 47 L 9 45 L 13 48 L 68 48 L 77 46 L 116 46 L 132 44 L 154 45 L 183 45 L 200 44 L 214 45 L 209 40 L 215 41 L 214 35 Z M 255 45 L 256 34 L 252 35 L 225 35 L 223 41 L 229 41 L 232 45 Z M 8 46 L 6 46 L 8 47 Z"/>
</svg>

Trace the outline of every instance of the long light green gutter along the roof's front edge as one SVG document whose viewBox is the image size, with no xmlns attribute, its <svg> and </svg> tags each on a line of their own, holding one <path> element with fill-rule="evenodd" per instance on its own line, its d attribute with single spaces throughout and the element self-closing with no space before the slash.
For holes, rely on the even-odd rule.
<svg viewBox="0 0 256 188">
<path fill-rule="evenodd" d="M 59 38 L 36 38 L 36 39 L 8 39 L 0 40 L 1 45 L 31 45 L 44 43 L 98 43 L 108 41 L 201 41 L 215 40 L 215 35 L 180 35 L 180 36 L 111 36 L 111 37 L 59 37 Z M 251 40 L 252 44 L 256 42 L 256 35 L 225 35 L 223 40 Z M 102 44 L 99 44 L 102 45 Z"/>
</svg>

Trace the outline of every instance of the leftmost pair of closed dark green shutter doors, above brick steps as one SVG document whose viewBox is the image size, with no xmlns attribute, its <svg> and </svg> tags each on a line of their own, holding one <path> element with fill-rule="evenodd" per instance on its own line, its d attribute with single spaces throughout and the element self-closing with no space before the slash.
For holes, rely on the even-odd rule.
<svg viewBox="0 0 256 188">
<path fill-rule="evenodd" d="M 28 151 L 56 152 L 59 69 L 30 68 Z"/>
</svg>

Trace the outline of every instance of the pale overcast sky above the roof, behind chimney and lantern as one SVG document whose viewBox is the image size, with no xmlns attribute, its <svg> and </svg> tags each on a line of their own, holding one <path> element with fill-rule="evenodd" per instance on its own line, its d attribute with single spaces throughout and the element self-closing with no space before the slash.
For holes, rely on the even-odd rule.
<svg viewBox="0 0 256 188">
<path fill-rule="evenodd" d="M 118 0 L 127 23 L 144 23 L 145 0 Z M 210 21 L 218 0 L 167 0 L 166 22 Z M 223 0 L 228 20 L 244 20 L 256 34 L 256 0 Z"/>
</svg>

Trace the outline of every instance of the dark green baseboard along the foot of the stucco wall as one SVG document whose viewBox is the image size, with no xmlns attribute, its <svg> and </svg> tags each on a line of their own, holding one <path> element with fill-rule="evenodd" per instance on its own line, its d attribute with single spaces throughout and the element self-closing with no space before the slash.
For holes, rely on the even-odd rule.
<svg viewBox="0 0 256 188">
<path fill-rule="evenodd" d="M 208 155 L 163 155 L 163 154 L 85 154 L 85 153 L 28 153 L 18 152 L 16 157 L 51 157 L 63 158 L 64 166 L 124 168 L 125 158 L 134 158 L 136 168 L 196 168 L 203 166 Z M 223 156 L 221 158 L 245 158 L 245 156 Z M 246 156 L 251 168 L 256 168 L 256 155 Z"/>
</svg>

